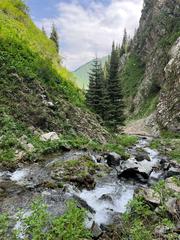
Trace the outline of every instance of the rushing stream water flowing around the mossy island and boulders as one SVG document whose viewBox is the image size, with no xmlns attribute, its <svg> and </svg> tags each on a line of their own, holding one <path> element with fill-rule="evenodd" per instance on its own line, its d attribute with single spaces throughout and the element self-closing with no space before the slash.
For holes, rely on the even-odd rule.
<svg viewBox="0 0 180 240">
<path fill-rule="evenodd" d="M 158 152 L 149 148 L 149 141 L 150 139 L 140 139 L 136 146 L 129 149 L 130 161 L 132 162 L 135 161 L 133 154 L 137 148 L 143 148 L 148 153 L 151 161 L 142 161 L 140 163 L 142 168 L 145 166 L 152 168 L 160 160 Z M 61 189 L 37 187 L 50 179 L 49 167 L 52 164 L 78 158 L 83 154 L 83 151 L 72 151 L 41 164 L 34 163 L 25 166 L 14 172 L 0 172 L 0 187 L 7 188 L 4 198 L 0 198 L 0 210 L 8 210 L 11 214 L 14 214 L 17 208 L 22 207 L 25 211 L 28 211 L 29 203 L 35 197 L 41 196 L 52 213 L 62 214 L 65 210 L 65 201 L 75 194 L 95 210 L 94 214 L 89 214 L 87 226 L 90 226 L 93 221 L 99 225 L 110 223 L 113 215 L 123 213 L 126 210 L 127 203 L 133 198 L 134 191 L 139 186 L 138 183 L 133 181 L 118 180 L 115 170 L 109 176 L 97 179 L 96 187 L 91 191 L 85 189 L 79 191 L 70 187 L 69 194 L 66 194 Z M 154 179 L 158 179 L 160 175 L 161 172 L 153 171 L 151 173 L 151 177 Z"/>
</svg>

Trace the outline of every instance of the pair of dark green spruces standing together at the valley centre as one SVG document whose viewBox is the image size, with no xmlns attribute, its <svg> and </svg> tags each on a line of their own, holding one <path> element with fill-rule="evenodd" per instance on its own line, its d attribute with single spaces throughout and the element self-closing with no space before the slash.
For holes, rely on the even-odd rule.
<svg viewBox="0 0 180 240">
<path fill-rule="evenodd" d="M 89 73 L 89 89 L 86 102 L 95 113 L 99 114 L 105 124 L 111 129 L 117 129 L 124 124 L 124 100 L 119 77 L 120 68 L 119 46 L 113 42 L 109 67 L 102 69 L 96 58 Z"/>
</svg>

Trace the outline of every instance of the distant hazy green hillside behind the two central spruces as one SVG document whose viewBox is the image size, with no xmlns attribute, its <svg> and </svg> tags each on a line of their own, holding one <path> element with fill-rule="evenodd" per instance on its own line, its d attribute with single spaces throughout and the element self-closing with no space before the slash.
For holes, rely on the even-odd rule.
<svg viewBox="0 0 180 240">
<path fill-rule="evenodd" d="M 105 62 L 107 61 L 108 56 L 100 58 L 100 62 L 102 66 L 104 66 Z M 89 72 L 92 67 L 93 60 L 84 64 L 83 66 L 79 67 L 77 70 L 74 71 L 74 75 L 76 76 L 76 83 L 81 89 L 87 89 L 89 84 Z"/>
</svg>

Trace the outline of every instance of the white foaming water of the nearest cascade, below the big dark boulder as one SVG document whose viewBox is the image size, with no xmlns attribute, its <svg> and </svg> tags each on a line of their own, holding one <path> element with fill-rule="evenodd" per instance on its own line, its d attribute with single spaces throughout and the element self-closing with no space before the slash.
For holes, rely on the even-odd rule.
<svg viewBox="0 0 180 240">
<path fill-rule="evenodd" d="M 113 213 L 123 213 L 126 211 L 126 205 L 133 198 L 135 187 L 133 185 L 120 185 L 117 182 L 114 184 L 97 186 L 94 190 L 83 190 L 79 197 L 85 200 L 96 213 L 93 219 L 87 225 L 90 226 L 92 221 L 97 224 L 107 224 L 110 222 Z M 107 199 L 100 200 L 102 195 L 108 195 L 112 201 Z"/>
</svg>

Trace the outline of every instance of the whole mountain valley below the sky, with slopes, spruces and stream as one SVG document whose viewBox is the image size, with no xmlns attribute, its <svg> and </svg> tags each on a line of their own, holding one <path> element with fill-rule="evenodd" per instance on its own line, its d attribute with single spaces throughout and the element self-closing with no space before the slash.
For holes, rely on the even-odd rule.
<svg viewBox="0 0 180 240">
<path fill-rule="evenodd" d="M 0 240 L 179 240 L 179 13 L 144 0 L 132 39 L 70 72 L 55 24 L 0 0 Z"/>
</svg>

